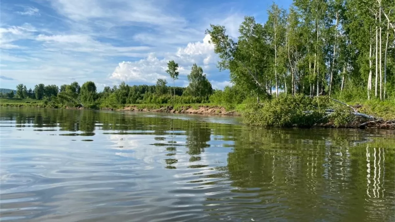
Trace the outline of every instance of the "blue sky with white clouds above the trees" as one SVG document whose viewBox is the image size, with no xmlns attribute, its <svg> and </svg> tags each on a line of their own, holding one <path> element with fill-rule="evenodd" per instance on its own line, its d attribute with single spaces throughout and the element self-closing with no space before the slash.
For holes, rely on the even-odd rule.
<svg viewBox="0 0 395 222">
<path fill-rule="evenodd" d="M 276 1 L 288 8 L 292 0 Z M 1 0 L 0 87 L 82 85 L 98 90 L 125 81 L 153 85 L 167 79 L 167 62 L 179 64 L 175 85 L 188 85 L 194 63 L 213 88 L 231 85 L 205 30 L 227 28 L 237 39 L 244 16 L 264 23 L 267 0 Z"/>
</svg>

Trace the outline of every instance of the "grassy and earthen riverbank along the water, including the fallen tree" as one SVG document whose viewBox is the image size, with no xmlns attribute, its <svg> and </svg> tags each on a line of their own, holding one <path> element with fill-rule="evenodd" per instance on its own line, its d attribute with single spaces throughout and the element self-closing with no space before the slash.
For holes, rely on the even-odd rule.
<svg viewBox="0 0 395 222">
<path fill-rule="evenodd" d="M 261 104 L 243 103 L 233 106 L 215 104 L 125 104 L 102 107 L 103 110 L 177 113 L 196 115 L 243 116 L 243 122 L 251 126 L 275 126 L 291 128 L 382 128 L 395 129 L 395 104 L 391 101 L 361 101 L 345 104 L 329 98 L 310 99 L 289 97 L 265 100 Z M 314 100 L 320 100 L 315 101 Z M 32 99 L 0 99 L 1 106 L 85 109 L 46 103 Z M 334 106 L 335 105 L 335 106 Z M 336 107 L 337 106 L 337 107 Z M 314 107 L 314 108 L 313 108 Z M 366 115 L 367 118 L 355 115 Z M 369 119 L 370 118 L 370 119 Z"/>
</svg>

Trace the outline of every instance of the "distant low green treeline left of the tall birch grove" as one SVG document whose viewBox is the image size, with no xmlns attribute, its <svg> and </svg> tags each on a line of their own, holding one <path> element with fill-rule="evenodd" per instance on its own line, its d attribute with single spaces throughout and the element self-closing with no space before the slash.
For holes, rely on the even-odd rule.
<svg viewBox="0 0 395 222">
<path fill-rule="evenodd" d="M 177 79 L 178 64 L 169 62 L 176 67 L 173 70 L 176 75 L 170 75 Z M 167 71 L 169 71 L 167 70 Z M 17 85 L 16 94 L 0 94 L 2 98 L 30 98 L 43 100 L 50 107 L 78 107 L 89 108 L 118 107 L 125 104 L 191 104 L 191 103 L 216 103 L 237 104 L 243 102 L 248 93 L 238 90 L 236 87 L 225 87 L 224 90 L 213 90 L 211 83 L 203 74 L 201 67 L 194 64 L 188 75 L 188 87 L 167 86 L 166 79 L 158 79 L 156 85 L 133 85 L 122 82 L 118 86 L 104 87 L 98 92 L 96 85 L 88 81 L 83 85 L 73 82 L 70 85 L 44 85 L 38 84 L 34 89 L 27 89 L 25 85 Z"/>
</svg>

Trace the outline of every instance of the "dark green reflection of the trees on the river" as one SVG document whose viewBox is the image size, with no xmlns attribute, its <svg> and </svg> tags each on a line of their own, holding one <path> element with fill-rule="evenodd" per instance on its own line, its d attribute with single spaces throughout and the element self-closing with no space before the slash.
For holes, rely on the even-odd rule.
<svg viewBox="0 0 395 222">
<path fill-rule="evenodd" d="M 215 173 L 201 177 L 228 179 L 234 196 L 255 198 L 259 204 L 275 205 L 284 203 L 286 198 L 292 215 L 316 207 L 316 215 L 311 216 L 324 219 L 329 208 L 319 206 L 333 205 L 331 213 L 341 214 L 344 209 L 335 206 L 346 202 L 353 206 L 350 211 L 364 212 L 354 214 L 357 216 L 352 220 L 390 220 L 388 206 L 394 210 L 395 140 L 391 138 L 395 132 L 391 131 L 257 129 L 198 118 L 65 109 L 2 110 L 0 120 L 15 122 L 16 127 L 82 131 L 87 135 L 98 130 L 153 135 L 152 145 L 163 147 L 167 169 L 178 167 L 180 150 L 189 156 L 188 167 L 198 171 L 211 167 L 204 152 L 230 147 L 224 166 L 213 167 Z M 177 142 L 179 137 L 184 138 L 184 143 Z M 213 147 L 214 143 L 219 143 L 219 147 Z M 220 200 L 223 198 L 216 195 L 206 199 L 209 214 L 220 215 L 221 208 L 211 205 Z M 305 204 L 300 205 L 300 201 Z M 298 207 L 292 207 L 295 205 Z"/>
</svg>

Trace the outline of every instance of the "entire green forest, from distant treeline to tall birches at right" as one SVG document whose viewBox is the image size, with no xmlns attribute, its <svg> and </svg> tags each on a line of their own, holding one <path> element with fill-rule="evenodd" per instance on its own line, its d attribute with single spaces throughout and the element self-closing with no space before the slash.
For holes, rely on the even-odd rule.
<svg viewBox="0 0 395 222">
<path fill-rule="evenodd" d="M 332 107 L 320 104 L 333 98 L 370 104 L 376 109 L 373 113 L 380 107 L 382 112 L 390 107 L 387 112 L 391 112 L 395 107 L 393 9 L 392 0 L 294 0 L 288 9 L 273 3 L 264 24 L 246 16 L 237 39 L 227 34 L 225 26 L 211 24 L 206 34 L 219 57 L 217 67 L 229 71 L 233 84 L 223 90 L 213 90 L 196 64 L 188 75 L 188 87 L 175 87 L 178 64 L 171 60 L 166 70 L 170 83 L 166 79 L 158 79 L 156 85 L 123 82 L 102 92 L 90 81 L 81 87 L 77 82 L 60 87 L 38 84 L 33 90 L 20 84 L 15 96 L 43 100 L 51 107 L 212 103 L 231 109 L 248 104 L 249 117 L 262 109 L 274 115 L 265 104 L 300 107 L 304 103 L 305 109 L 318 105 L 327 110 Z"/>
</svg>

